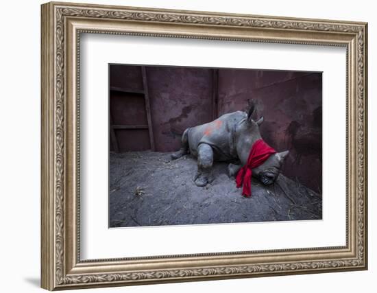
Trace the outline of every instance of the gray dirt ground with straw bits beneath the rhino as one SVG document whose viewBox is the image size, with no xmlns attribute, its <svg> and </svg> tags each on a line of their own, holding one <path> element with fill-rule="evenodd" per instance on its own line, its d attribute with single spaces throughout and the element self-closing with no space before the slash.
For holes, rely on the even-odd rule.
<svg viewBox="0 0 377 293">
<path fill-rule="evenodd" d="M 197 187 L 197 161 L 172 161 L 171 153 L 110 154 L 110 227 L 314 220 L 319 194 L 282 174 L 266 187 L 252 180 L 252 198 L 241 196 L 226 163 L 215 162 L 214 180 Z"/>
</svg>

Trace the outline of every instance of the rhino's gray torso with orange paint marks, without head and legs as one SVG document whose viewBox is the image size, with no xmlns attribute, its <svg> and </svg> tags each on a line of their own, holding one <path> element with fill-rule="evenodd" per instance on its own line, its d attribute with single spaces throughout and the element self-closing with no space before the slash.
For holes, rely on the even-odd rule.
<svg viewBox="0 0 377 293">
<path fill-rule="evenodd" d="M 189 128 L 189 148 L 193 156 L 197 156 L 197 147 L 200 143 L 211 145 L 216 161 L 236 159 L 232 147 L 232 132 L 234 126 L 245 119 L 245 112 L 236 111 L 224 114 L 206 124 Z"/>
</svg>

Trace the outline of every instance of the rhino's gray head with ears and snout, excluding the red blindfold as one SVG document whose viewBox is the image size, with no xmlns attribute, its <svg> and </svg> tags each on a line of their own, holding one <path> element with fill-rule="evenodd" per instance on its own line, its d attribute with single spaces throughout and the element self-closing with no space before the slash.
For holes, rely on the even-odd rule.
<svg viewBox="0 0 377 293">
<path fill-rule="evenodd" d="M 254 111 L 255 105 L 253 103 L 247 113 L 245 113 L 245 118 L 239 121 L 234 129 L 234 145 L 242 166 L 246 165 L 254 142 L 261 139 L 259 126 L 263 122 L 263 117 L 254 121 L 252 119 Z M 265 163 L 252 170 L 253 176 L 258 178 L 264 185 L 270 185 L 278 178 L 284 159 L 287 158 L 288 154 L 288 150 L 272 154 Z"/>
</svg>

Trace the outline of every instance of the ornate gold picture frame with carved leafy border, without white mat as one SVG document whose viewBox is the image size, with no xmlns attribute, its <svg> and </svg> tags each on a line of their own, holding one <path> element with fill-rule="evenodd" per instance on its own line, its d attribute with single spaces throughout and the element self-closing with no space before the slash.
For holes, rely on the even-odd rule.
<svg viewBox="0 0 377 293">
<path fill-rule="evenodd" d="M 42 288 L 367 269 L 367 23 L 77 3 L 46 3 L 41 9 Z M 346 47 L 346 245 L 80 261 L 82 32 Z"/>
</svg>

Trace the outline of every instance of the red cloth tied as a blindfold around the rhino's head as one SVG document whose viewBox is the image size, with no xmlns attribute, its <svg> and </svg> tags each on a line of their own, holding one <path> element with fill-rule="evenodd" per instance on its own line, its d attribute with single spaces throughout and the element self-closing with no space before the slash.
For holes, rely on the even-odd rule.
<svg viewBox="0 0 377 293">
<path fill-rule="evenodd" d="M 243 185 L 243 196 L 247 198 L 252 196 L 252 169 L 265 163 L 269 156 L 275 153 L 276 150 L 267 145 L 263 139 L 258 139 L 252 145 L 246 165 L 239 170 L 236 176 L 237 188 Z"/>
</svg>

